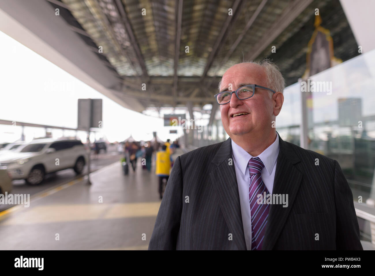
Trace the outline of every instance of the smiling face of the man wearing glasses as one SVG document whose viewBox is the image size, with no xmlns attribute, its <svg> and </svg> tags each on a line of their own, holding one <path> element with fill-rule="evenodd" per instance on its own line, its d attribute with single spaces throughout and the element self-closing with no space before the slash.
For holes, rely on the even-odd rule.
<svg viewBox="0 0 375 276">
<path fill-rule="evenodd" d="M 222 77 L 220 92 L 235 91 L 247 84 L 267 86 L 264 68 L 252 63 L 240 63 L 229 68 Z M 268 87 L 270 88 L 270 87 Z M 269 91 L 255 88 L 254 96 L 239 100 L 233 93 L 228 104 L 220 105 L 221 120 L 226 133 L 233 135 L 263 132 L 270 128 L 273 120 L 273 101 Z M 248 113 L 233 117 L 233 114 Z"/>
</svg>

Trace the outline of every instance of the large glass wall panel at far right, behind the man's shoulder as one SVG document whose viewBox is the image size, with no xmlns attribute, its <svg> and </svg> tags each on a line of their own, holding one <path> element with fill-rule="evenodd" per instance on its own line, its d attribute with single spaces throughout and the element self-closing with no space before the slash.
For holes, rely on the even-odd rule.
<svg viewBox="0 0 375 276">
<path fill-rule="evenodd" d="M 375 198 L 374 73 L 372 50 L 309 78 L 309 149 L 338 160 L 363 202 Z"/>
</svg>

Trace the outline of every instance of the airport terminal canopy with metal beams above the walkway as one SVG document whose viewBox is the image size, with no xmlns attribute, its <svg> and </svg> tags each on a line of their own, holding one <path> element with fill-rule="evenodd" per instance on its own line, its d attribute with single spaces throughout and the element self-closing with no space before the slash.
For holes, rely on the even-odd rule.
<svg viewBox="0 0 375 276">
<path fill-rule="evenodd" d="M 287 85 L 297 82 L 306 69 L 316 9 L 322 26 L 335 37 L 335 56 L 347 60 L 358 54 L 339 0 L 3 3 L 0 8 L 45 47 L 10 28 L 9 35 L 138 112 L 215 103 L 222 74 L 243 60 L 268 57 L 279 65 Z M 48 48 L 62 57 L 48 54 Z"/>
</svg>

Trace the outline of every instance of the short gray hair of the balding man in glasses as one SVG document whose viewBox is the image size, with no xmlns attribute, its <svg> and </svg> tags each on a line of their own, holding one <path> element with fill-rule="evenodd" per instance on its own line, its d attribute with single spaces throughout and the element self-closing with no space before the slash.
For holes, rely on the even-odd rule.
<svg viewBox="0 0 375 276">
<path fill-rule="evenodd" d="M 267 76 L 267 86 L 268 88 L 274 90 L 275 92 L 284 92 L 285 88 L 285 80 L 284 77 L 282 76 L 281 72 L 279 71 L 278 66 L 276 63 L 271 62 L 268 58 L 262 60 L 261 62 L 258 61 L 243 61 L 241 63 L 253 63 L 260 65 L 264 68 L 266 71 L 266 76 Z M 221 81 L 219 82 L 219 91 L 220 91 L 220 85 Z M 270 98 L 272 98 L 272 91 L 269 91 Z"/>
</svg>

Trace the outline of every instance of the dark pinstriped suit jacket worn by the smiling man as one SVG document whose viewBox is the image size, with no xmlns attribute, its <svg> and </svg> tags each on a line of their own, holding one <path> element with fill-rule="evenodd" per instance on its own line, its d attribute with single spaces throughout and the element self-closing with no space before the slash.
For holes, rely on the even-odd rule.
<svg viewBox="0 0 375 276">
<path fill-rule="evenodd" d="M 281 138 L 279 142 L 273 193 L 288 194 L 289 205 L 270 205 L 262 249 L 362 250 L 353 195 L 339 163 Z M 246 250 L 229 158 L 230 138 L 177 157 L 149 250 Z"/>
</svg>

